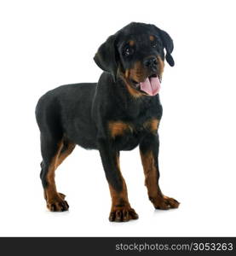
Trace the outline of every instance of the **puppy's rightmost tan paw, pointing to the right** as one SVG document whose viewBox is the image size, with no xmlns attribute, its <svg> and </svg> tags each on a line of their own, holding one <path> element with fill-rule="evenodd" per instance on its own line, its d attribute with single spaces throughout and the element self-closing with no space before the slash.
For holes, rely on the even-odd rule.
<svg viewBox="0 0 236 256">
<path fill-rule="evenodd" d="M 173 208 L 178 208 L 180 203 L 174 198 L 168 196 L 158 196 L 157 198 L 151 198 L 150 201 L 153 202 L 153 206 L 159 210 L 169 210 Z"/>
</svg>

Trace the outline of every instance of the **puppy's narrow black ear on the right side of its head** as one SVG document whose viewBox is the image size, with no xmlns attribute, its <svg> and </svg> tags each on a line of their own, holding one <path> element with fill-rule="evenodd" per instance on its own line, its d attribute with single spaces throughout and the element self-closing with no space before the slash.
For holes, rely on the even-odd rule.
<svg viewBox="0 0 236 256">
<path fill-rule="evenodd" d="M 174 49 L 174 44 L 172 38 L 170 38 L 170 35 L 165 32 L 164 30 L 159 29 L 157 26 L 155 26 L 156 29 L 158 30 L 158 34 L 162 40 L 162 44 L 164 45 L 164 48 L 166 50 L 166 55 L 165 59 L 169 63 L 171 67 L 175 66 L 175 61 L 171 55 L 173 49 Z"/>
</svg>

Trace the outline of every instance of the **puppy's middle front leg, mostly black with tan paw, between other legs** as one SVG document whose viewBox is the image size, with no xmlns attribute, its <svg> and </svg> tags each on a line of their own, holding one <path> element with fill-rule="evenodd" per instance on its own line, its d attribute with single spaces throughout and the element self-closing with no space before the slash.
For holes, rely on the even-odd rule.
<svg viewBox="0 0 236 256">
<path fill-rule="evenodd" d="M 106 139 L 99 141 L 99 151 L 112 196 L 109 220 L 123 222 L 138 218 L 135 210 L 130 207 L 126 184 L 119 168 L 119 152 Z"/>
</svg>

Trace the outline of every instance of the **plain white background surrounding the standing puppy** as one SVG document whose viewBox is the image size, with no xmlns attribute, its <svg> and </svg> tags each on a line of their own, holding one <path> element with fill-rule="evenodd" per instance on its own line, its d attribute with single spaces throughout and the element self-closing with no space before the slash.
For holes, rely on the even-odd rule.
<svg viewBox="0 0 236 256">
<path fill-rule="evenodd" d="M 0 236 L 236 236 L 235 1 L 1 1 Z M 131 21 L 174 39 L 165 66 L 160 186 L 181 201 L 155 211 L 138 149 L 121 153 L 140 218 L 108 221 L 108 185 L 97 151 L 77 147 L 56 172 L 69 212 L 49 212 L 39 179 L 37 99 L 60 84 L 95 82 L 105 39 Z"/>
</svg>

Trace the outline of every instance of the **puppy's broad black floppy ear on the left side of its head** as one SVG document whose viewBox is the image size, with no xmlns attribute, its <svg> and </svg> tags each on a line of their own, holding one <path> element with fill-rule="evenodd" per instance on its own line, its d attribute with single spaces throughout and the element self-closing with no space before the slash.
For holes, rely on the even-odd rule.
<svg viewBox="0 0 236 256">
<path fill-rule="evenodd" d="M 106 39 L 106 42 L 101 44 L 94 60 L 98 67 L 102 70 L 111 73 L 114 81 L 117 79 L 118 72 L 118 54 L 115 46 L 116 35 L 112 35 Z"/>
</svg>

